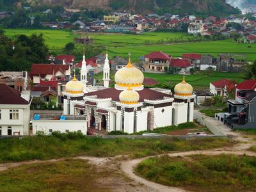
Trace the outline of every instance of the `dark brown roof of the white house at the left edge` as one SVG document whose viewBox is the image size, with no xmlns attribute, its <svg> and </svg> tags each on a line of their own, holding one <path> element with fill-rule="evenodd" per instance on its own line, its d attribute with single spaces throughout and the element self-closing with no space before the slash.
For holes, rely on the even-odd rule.
<svg viewBox="0 0 256 192">
<path fill-rule="evenodd" d="M 26 105 L 28 101 L 20 97 L 18 90 L 5 84 L 0 84 L 0 104 Z"/>
</svg>

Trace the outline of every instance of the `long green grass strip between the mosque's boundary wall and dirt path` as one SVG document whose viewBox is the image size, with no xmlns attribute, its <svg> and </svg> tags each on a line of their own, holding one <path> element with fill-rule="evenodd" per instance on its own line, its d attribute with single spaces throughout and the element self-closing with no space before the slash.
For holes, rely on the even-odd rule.
<svg viewBox="0 0 256 192">
<path fill-rule="evenodd" d="M 161 139 L 102 139 L 98 137 L 35 136 L 28 138 L 6 138 L 0 140 L 0 162 L 26 161 L 32 159 L 54 159 L 88 155 L 113 157 L 130 155 L 144 157 L 171 151 L 204 150 L 207 148 L 230 147 L 234 145 L 225 138 L 201 138 L 196 140 Z"/>
</svg>

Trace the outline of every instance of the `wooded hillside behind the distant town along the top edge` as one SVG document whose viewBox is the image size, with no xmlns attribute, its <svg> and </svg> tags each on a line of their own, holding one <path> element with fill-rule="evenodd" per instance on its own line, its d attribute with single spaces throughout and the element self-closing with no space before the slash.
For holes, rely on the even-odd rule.
<svg viewBox="0 0 256 192">
<path fill-rule="evenodd" d="M 20 2 L 32 5 L 60 4 L 67 8 L 88 10 L 126 10 L 132 13 L 199 13 L 200 15 L 228 15 L 239 10 L 225 3 L 225 0 L 0 0 L 0 7 Z"/>
</svg>

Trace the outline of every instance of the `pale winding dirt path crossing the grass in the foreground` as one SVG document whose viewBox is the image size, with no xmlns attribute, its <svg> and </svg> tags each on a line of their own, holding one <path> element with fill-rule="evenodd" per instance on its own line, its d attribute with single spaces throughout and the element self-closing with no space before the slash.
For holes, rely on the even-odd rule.
<svg viewBox="0 0 256 192">
<path fill-rule="evenodd" d="M 239 132 L 233 132 L 227 127 L 220 127 L 221 131 L 225 132 L 225 134 L 232 134 L 234 136 L 234 140 L 239 141 L 239 144 L 234 145 L 232 147 L 222 147 L 222 148 L 214 148 L 210 150 L 195 150 L 188 152 L 173 152 L 167 154 L 170 157 L 185 157 L 189 155 L 195 154 L 204 154 L 207 156 L 215 156 L 220 154 L 235 154 L 235 155 L 243 155 L 246 154 L 248 156 L 256 156 L 255 152 L 248 151 L 248 148 L 256 145 L 255 140 L 250 138 L 246 138 L 243 134 Z M 158 155 L 158 156 L 163 156 Z M 152 156 L 154 157 L 154 156 Z M 164 186 L 161 184 L 157 184 L 155 182 L 148 181 L 134 174 L 134 168 L 143 160 L 149 157 L 144 157 L 141 159 L 133 159 L 129 161 L 124 161 L 124 156 L 116 156 L 116 157 L 88 157 L 88 156 L 78 156 L 73 157 L 73 159 L 83 159 L 89 161 L 91 164 L 97 166 L 97 170 L 107 169 L 112 174 L 109 175 L 105 180 L 99 180 L 99 184 L 102 186 L 107 186 L 111 188 L 111 191 L 170 191 L 170 192 L 182 192 L 185 191 L 181 188 L 174 188 L 170 186 Z M 35 163 L 54 163 L 57 161 L 63 161 L 66 158 L 61 159 L 51 159 L 47 161 L 24 161 L 19 163 L 5 163 L 0 164 L 0 172 L 7 170 L 8 168 L 13 168 L 16 166 L 22 166 L 24 164 L 35 164 Z M 120 160 L 121 159 L 121 160 Z"/>
</svg>

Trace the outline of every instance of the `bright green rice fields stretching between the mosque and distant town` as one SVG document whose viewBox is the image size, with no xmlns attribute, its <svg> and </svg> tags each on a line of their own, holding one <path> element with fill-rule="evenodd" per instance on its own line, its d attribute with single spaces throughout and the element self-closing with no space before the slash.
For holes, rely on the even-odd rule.
<svg viewBox="0 0 256 192">
<path fill-rule="evenodd" d="M 31 35 L 43 33 L 45 44 L 54 50 L 61 50 L 68 42 L 73 42 L 72 32 L 54 29 L 4 29 L 7 36 L 20 34 Z M 82 34 L 83 35 L 83 34 Z M 95 45 L 108 46 L 109 57 L 123 56 L 127 58 L 131 52 L 132 61 L 138 61 L 152 51 L 164 51 L 174 57 L 182 56 L 182 53 L 195 52 L 212 54 L 217 56 L 220 53 L 247 54 L 248 60 L 256 60 L 256 44 L 236 44 L 231 39 L 209 41 L 209 42 L 188 42 L 194 37 L 186 33 L 154 33 L 148 32 L 142 35 L 125 34 L 86 34 L 95 40 Z M 169 42 L 182 41 L 183 43 L 172 44 Z M 77 49 L 82 49 L 77 46 Z"/>
</svg>

